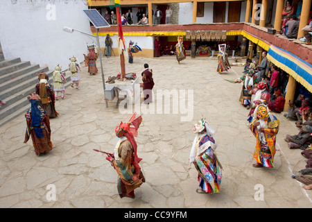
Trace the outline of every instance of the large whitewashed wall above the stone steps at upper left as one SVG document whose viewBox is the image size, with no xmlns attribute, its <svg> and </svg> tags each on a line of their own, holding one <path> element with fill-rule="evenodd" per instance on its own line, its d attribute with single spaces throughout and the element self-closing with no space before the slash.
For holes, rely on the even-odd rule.
<svg viewBox="0 0 312 222">
<path fill-rule="evenodd" d="M 83 62 L 86 44 L 96 39 L 78 32 L 67 33 L 64 26 L 90 33 L 83 12 L 86 0 L 1 0 L 0 41 L 6 59 L 21 58 L 40 67 L 68 67 L 71 56 Z M 52 6 L 52 8 L 49 8 Z M 47 8 L 48 7 L 48 8 Z M 53 15 L 55 7 L 55 16 Z"/>
</svg>

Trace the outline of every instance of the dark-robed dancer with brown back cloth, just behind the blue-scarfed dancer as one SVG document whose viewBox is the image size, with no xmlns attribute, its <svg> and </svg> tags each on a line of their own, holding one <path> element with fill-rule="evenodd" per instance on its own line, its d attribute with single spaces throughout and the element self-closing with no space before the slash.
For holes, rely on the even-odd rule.
<svg viewBox="0 0 312 222">
<path fill-rule="evenodd" d="M 49 118 L 58 117 L 55 110 L 55 94 L 53 87 L 48 83 L 49 77 L 43 71 L 37 74 L 40 82 L 35 86 L 36 94 L 40 96 L 40 106 L 46 110 Z"/>
</svg>

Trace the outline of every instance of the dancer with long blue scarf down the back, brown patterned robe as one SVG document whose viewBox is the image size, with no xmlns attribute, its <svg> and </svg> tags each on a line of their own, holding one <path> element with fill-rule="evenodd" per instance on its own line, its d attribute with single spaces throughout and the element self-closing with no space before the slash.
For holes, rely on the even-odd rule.
<svg viewBox="0 0 312 222">
<path fill-rule="evenodd" d="M 31 108 L 25 114 L 27 128 L 24 143 L 31 137 L 36 155 L 48 153 L 53 147 L 49 116 L 39 105 L 39 95 L 31 94 L 28 100 L 31 102 Z"/>
</svg>

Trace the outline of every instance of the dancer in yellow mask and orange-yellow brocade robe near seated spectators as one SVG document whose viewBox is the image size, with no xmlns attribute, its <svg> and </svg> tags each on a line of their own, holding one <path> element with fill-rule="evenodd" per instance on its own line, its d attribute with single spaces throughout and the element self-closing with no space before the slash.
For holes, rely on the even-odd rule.
<svg viewBox="0 0 312 222">
<path fill-rule="evenodd" d="M 257 123 L 259 122 L 259 126 Z M 261 129 L 263 132 L 261 132 Z M 279 120 L 268 112 L 266 105 L 258 105 L 254 110 L 254 119 L 250 130 L 257 139 L 253 159 L 257 161 L 256 167 L 274 167 L 273 161 L 276 153 L 276 136 L 279 132 Z"/>
</svg>

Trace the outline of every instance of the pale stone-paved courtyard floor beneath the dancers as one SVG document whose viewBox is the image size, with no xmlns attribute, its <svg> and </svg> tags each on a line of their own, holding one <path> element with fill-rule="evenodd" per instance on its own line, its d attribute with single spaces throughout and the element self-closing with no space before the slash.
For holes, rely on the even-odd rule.
<svg viewBox="0 0 312 222">
<path fill-rule="evenodd" d="M 284 142 L 286 134 L 295 135 L 298 130 L 283 114 L 275 114 L 280 121 L 277 147 L 281 149 L 275 155 L 275 168 L 252 167 L 256 139 L 246 126 L 249 110 L 238 101 L 241 84 L 225 80 L 241 77 L 243 67 L 218 74 L 216 58 L 188 57 L 178 65 L 173 56 L 135 55 L 134 63 L 126 64 L 126 72 L 136 72 L 141 78 L 144 63 L 153 69 L 155 81 L 150 110 L 159 105 L 157 90 L 180 93 L 184 89 L 193 97 L 179 94 L 179 101 L 186 99 L 192 109 L 187 121 L 181 121 L 187 114 L 175 102 L 169 113 L 143 114 L 136 141 L 146 182 L 135 189 L 136 198 L 119 198 L 116 171 L 104 154 L 93 151 L 113 153 L 118 141 L 114 128 L 132 116 L 119 112 L 116 99 L 105 107 L 98 61 L 99 74 L 89 76 L 87 67 L 81 65 L 80 89 L 68 87 L 66 98 L 56 101 L 60 116 L 51 119 L 53 151 L 36 156 L 31 139 L 23 143 L 24 115 L 0 127 L 0 207 L 312 207 L 312 191 L 291 178 L 306 162 L 300 150 L 291 150 Z M 103 69 L 105 78 L 118 74 L 119 58 L 103 58 Z M 146 105 L 141 105 L 144 109 Z M 216 130 L 216 153 L 223 165 L 218 194 L 196 193 L 198 174 L 189 164 L 193 125 L 202 115 Z M 56 200 L 48 200 L 48 185 L 55 186 Z M 263 200 L 254 198 L 257 186 L 264 189 Z"/>
</svg>

